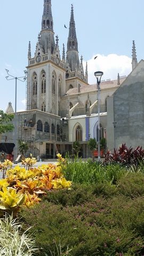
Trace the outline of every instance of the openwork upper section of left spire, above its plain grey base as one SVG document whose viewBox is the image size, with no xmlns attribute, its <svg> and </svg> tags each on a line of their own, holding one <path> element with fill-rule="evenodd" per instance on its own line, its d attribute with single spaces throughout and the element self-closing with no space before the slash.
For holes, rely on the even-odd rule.
<svg viewBox="0 0 144 256">
<path fill-rule="evenodd" d="M 42 30 L 51 29 L 53 31 L 53 18 L 51 0 L 44 0 L 44 11 L 42 18 Z"/>
</svg>

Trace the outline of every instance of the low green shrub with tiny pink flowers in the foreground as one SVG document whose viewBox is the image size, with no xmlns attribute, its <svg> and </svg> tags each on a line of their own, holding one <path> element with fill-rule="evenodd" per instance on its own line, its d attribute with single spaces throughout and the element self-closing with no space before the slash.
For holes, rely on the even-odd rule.
<svg viewBox="0 0 144 256">
<path fill-rule="evenodd" d="M 55 244 L 61 246 L 61 254 L 55 248 L 55 256 L 65 255 L 67 250 L 71 256 L 142 255 L 143 197 L 133 200 L 115 194 L 115 189 L 111 183 L 75 185 L 23 209 L 21 217 L 26 228 L 32 227 L 29 232 L 35 234 L 39 255 L 52 256 Z"/>
</svg>

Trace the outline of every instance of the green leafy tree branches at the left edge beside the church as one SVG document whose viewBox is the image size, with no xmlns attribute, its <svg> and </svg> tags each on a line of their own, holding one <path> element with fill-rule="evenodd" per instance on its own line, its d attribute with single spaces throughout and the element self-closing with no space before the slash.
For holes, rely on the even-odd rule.
<svg viewBox="0 0 144 256">
<path fill-rule="evenodd" d="M 13 130 L 14 126 L 11 123 L 13 117 L 13 114 L 5 114 L 3 110 L 0 110 L 0 134 Z"/>
</svg>

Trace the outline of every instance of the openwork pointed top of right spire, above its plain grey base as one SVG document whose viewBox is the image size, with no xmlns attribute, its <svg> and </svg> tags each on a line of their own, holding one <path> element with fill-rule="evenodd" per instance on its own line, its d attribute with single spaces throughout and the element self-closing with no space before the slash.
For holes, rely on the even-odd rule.
<svg viewBox="0 0 144 256">
<path fill-rule="evenodd" d="M 69 36 L 68 36 L 68 43 L 67 43 L 67 50 L 72 50 L 72 49 L 78 51 L 73 4 L 71 4 L 71 16 L 70 16 L 70 22 L 69 22 Z"/>
</svg>

